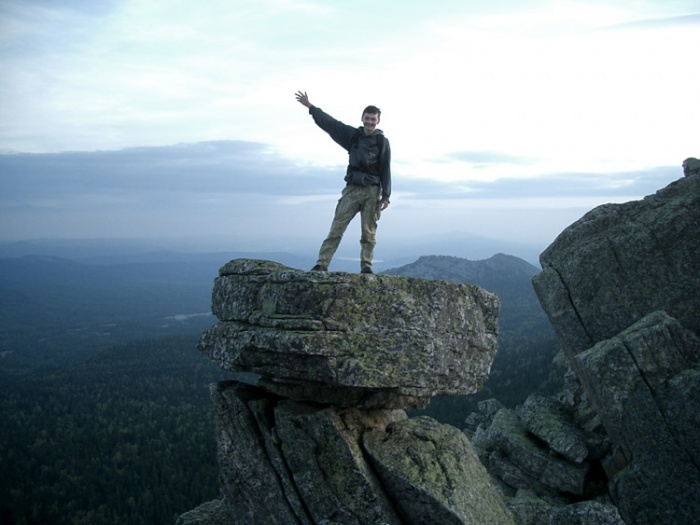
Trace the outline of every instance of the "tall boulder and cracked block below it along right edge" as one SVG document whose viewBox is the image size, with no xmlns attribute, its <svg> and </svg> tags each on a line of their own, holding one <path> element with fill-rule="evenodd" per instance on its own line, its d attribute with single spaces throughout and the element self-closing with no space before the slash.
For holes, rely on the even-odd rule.
<svg viewBox="0 0 700 525">
<path fill-rule="evenodd" d="M 592 210 L 541 264 L 535 290 L 614 448 L 601 464 L 625 523 L 697 523 L 700 176 Z"/>
</svg>

